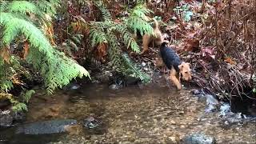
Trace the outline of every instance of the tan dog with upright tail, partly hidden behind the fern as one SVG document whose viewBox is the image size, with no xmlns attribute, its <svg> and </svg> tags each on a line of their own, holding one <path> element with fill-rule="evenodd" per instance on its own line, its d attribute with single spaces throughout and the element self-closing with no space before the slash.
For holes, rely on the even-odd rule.
<svg viewBox="0 0 256 144">
<path fill-rule="evenodd" d="M 154 21 L 153 26 L 153 34 L 144 34 L 142 36 L 142 52 L 140 54 L 144 54 L 149 50 L 150 42 L 154 42 L 155 46 L 160 46 L 162 42 L 164 42 L 164 37 L 162 36 L 162 32 L 159 29 L 158 21 L 154 18 L 151 18 Z M 148 19 L 150 21 L 150 19 Z M 136 40 L 138 39 L 139 34 L 134 34 L 133 38 Z"/>
</svg>

